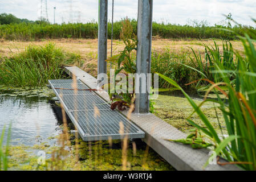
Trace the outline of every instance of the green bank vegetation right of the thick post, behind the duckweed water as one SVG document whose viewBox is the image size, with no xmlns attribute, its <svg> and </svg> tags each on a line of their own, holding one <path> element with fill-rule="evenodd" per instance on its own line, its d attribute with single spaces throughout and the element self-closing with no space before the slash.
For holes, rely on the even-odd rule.
<svg viewBox="0 0 256 182">
<path fill-rule="evenodd" d="M 237 68 L 237 58 L 233 53 L 233 47 L 230 42 L 222 42 L 222 50 L 214 42 L 214 47 L 205 45 L 204 56 L 200 51 L 196 53 L 192 49 L 192 55 L 189 51 L 180 51 L 174 53 L 169 48 L 162 51 L 152 51 L 152 73 L 161 73 L 162 75 L 172 78 L 178 85 L 187 91 L 205 90 L 209 88 L 210 82 L 221 82 L 223 79 L 220 73 L 213 73 L 214 57 L 218 58 L 218 64 L 221 64 L 226 71 L 229 71 L 228 77 L 233 83 L 235 75 L 234 70 Z M 205 80 L 207 79 L 207 80 Z M 170 88 L 172 84 L 160 78 L 160 88 Z"/>
</svg>

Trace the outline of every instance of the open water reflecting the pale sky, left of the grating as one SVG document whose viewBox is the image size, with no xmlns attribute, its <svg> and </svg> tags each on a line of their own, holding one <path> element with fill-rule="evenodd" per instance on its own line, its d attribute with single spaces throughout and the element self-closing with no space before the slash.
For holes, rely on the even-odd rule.
<svg viewBox="0 0 256 182">
<path fill-rule="evenodd" d="M 36 138 L 55 137 L 60 130 L 53 103 L 45 98 L 0 96 L 0 131 L 11 123 L 11 144 L 32 146 Z"/>
</svg>

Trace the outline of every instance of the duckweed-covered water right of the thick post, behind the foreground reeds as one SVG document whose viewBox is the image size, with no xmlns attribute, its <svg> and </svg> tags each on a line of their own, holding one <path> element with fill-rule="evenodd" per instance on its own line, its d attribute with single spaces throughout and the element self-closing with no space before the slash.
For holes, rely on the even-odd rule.
<svg viewBox="0 0 256 182">
<path fill-rule="evenodd" d="M 194 102 L 196 102 L 197 105 L 200 105 L 202 100 L 194 99 Z M 219 118 L 222 130 L 224 130 L 225 133 L 225 121 L 220 110 L 217 109 L 218 118 L 212 103 L 206 102 L 201 107 L 201 110 L 212 123 L 213 127 L 220 132 L 220 127 L 218 124 Z M 159 95 L 155 101 L 155 111 L 155 115 L 157 117 L 176 127 L 178 130 L 189 133 L 189 130 L 193 128 L 193 126 L 186 121 L 186 118 L 188 118 L 189 115 L 193 113 L 194 109 L 189 104 L 188 100 L 186 100 L 184 97 Z M 190 119 L 192 119 L 200 126 L 205 127 L 204 123 L 196 113 L 193 114 Z"/>
</svg>

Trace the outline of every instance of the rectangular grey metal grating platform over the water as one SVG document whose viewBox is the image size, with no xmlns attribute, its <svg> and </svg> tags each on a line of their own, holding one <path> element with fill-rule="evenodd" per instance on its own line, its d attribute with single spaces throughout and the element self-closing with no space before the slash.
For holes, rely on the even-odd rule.
<svg viewBox="0 0 256 182">
<path fill-rule="evenodd" d="M 145 133 L 99 97 L 82 81 L 49 80 L 59 101 L 84 141 L 144 138 Z M 120 134 L 120 122 L 124 129 Z"/>
</svg>

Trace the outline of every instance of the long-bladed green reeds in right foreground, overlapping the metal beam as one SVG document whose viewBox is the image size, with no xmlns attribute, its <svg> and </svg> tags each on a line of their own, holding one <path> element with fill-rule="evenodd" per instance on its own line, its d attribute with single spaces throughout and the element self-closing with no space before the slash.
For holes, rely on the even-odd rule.
<svg viewBox="0 0 256 182">
<path fill-rule="evenodd" d="M 194 113 L 197 113 L 204 122 L 204 126 L 197 125 L 190 118 L 187 121 L 212 139 L 217 155 L 221 155 L 231 164 L 237 164 L 243 169 L 256 170 L 256 49 L 253 44 L 256 34 L 250 31 L 240 39 L 245 49 L 245 57 L 231 48 L 226 52 L 228 54 L 224 53 L 224 56 L 220 56 L 218 49 L 206 47 L 210 52 L 209 57 L 214 68 L 212 73 L 213 75 L 218 74 L 217 81 L 221 81 L 212 83 L 206 96 L 209 92 L 214 91 L 218 100 L 210 100 L 205 97 L 205 100 L 197 106 L 174 80 L 164 75 L 160 76 L 184 93 L 193 106 Z M 237 68 L 234 67 L 233 59 L 230 57 L 233 53 L 237 56 Z M 218 85 L 226 85 L 228 90 L 225 92 Z M 226 96 L 229 100 L 228 104 L 221 99 L 217 90 Z M 201 111 L 200 107 L 205 102 L 217 104 L 218 109 L 222 111 L 228 137 L 225 137 L 223 132 L 222 135 L 218 134 L 209 118 Z"/>
</svg>

